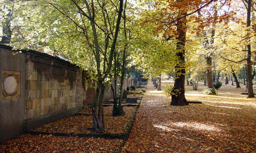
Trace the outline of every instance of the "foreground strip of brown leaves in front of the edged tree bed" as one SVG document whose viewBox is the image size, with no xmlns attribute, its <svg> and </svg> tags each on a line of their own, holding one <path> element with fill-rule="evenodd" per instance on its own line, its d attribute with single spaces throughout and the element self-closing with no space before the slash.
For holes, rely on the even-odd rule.
<svg viewBox="0 0 256 153">
<path fill-rule="evenodd" d="M 116 152 L 121 139 L 22 134 L 0 145 L 0 152 Z"/>
</svg>

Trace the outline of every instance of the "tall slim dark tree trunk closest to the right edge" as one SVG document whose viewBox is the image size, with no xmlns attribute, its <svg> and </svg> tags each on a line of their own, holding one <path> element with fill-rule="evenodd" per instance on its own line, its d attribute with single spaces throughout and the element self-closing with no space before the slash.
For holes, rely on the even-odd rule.
<svg viewBox="0 0 256 153">
<path fill-rule="evenodd" d="M 250 27 L 251 26 L 251 4 L 252 1 L 248 0 L 247 1 L 247 20 L 246 20 L 246 27 Z M 250 36 L 250 32 L 247 32 L 247 36 Z M 248 38 L 250 39 L 250 38 Z M 248 82 L 248 97 L 247 98 L 252 98 L 254 97 L 253 95 L 253 87 L 252 87 L 252 61 L 251 61 L 251 44 L 250 44 L 250 40 L 249 42 L 247 42 L 246 45 L 246 50 L 247 50 L 247 58 L 246 58 L 246 62 L 247 62 L 247 82 Z"/>
</svg>

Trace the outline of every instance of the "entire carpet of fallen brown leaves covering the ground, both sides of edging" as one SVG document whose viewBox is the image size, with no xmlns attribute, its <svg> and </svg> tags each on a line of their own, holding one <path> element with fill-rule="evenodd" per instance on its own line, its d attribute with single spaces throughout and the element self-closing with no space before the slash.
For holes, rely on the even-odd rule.
<svg viewBox="0 0 256 153">
<path fill-rule="evenodd" d="M 172 83 L 164 80 L 162 89 Z M 122 150 L 122 139 L 22 134 L 0 144 L 0 152 L 256 152 L 256 98 L 233 86 L 222 86 L 217 96 L 204 95 L 204 88 L 186 86 L 187 100 L 202 104 L 170 106 L 171 98 L 149 82 Z M 111 116 L 111 109 L 105 107 L 106 133 L 121 133 L 135 107 L 125 106 L 121 117 Z M 35 131 L 90 133 L 91 111 L 80 113 Z"/>
</svg>

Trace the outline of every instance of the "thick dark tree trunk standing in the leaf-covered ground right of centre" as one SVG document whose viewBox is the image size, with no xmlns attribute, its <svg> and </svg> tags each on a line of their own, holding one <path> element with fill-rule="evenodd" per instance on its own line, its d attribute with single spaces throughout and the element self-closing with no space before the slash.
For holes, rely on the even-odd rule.
<svg viewBox="0 0 256 153">
<path fill-rule="evenodd" d="M 177 0 L 182 2 L 182 0 Z M 185 15 L 186 13 L 181 13 Z M 179 60 L 179 63 L 175 66 L 175 81 L 172 95 L 171 105 L 184 106 L 188 105 L 188 101 L 185 98 L 185 44 L 186 44 L 186 24 L 187 18 L 183 18 L 177 22 L 177 53 L 175 54 Z"/>
</svg>

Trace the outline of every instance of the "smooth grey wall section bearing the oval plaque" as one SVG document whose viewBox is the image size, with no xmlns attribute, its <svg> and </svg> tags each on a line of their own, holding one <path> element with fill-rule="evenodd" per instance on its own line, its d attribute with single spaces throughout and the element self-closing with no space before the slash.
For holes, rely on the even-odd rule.
<svg viewBox="0 0 256 153">
<path fill-rule="evenodd" d="M 0 142 L 22 133 L 25 115 L 25 55 L 11 49 L 9 46 L 0 44 Z M 15 80 L 9 80 L 14 82 L 9 82 L 8 76 L 15 78 Z M 4 88 L 9 87 L 17 87 L 17 90 L 13 90 L 13 93 L 6 93 L 8 89 L 5 91 Z M 9 88 L 9 91 L 10 89 L 14 88 Z"/>
</svg>

